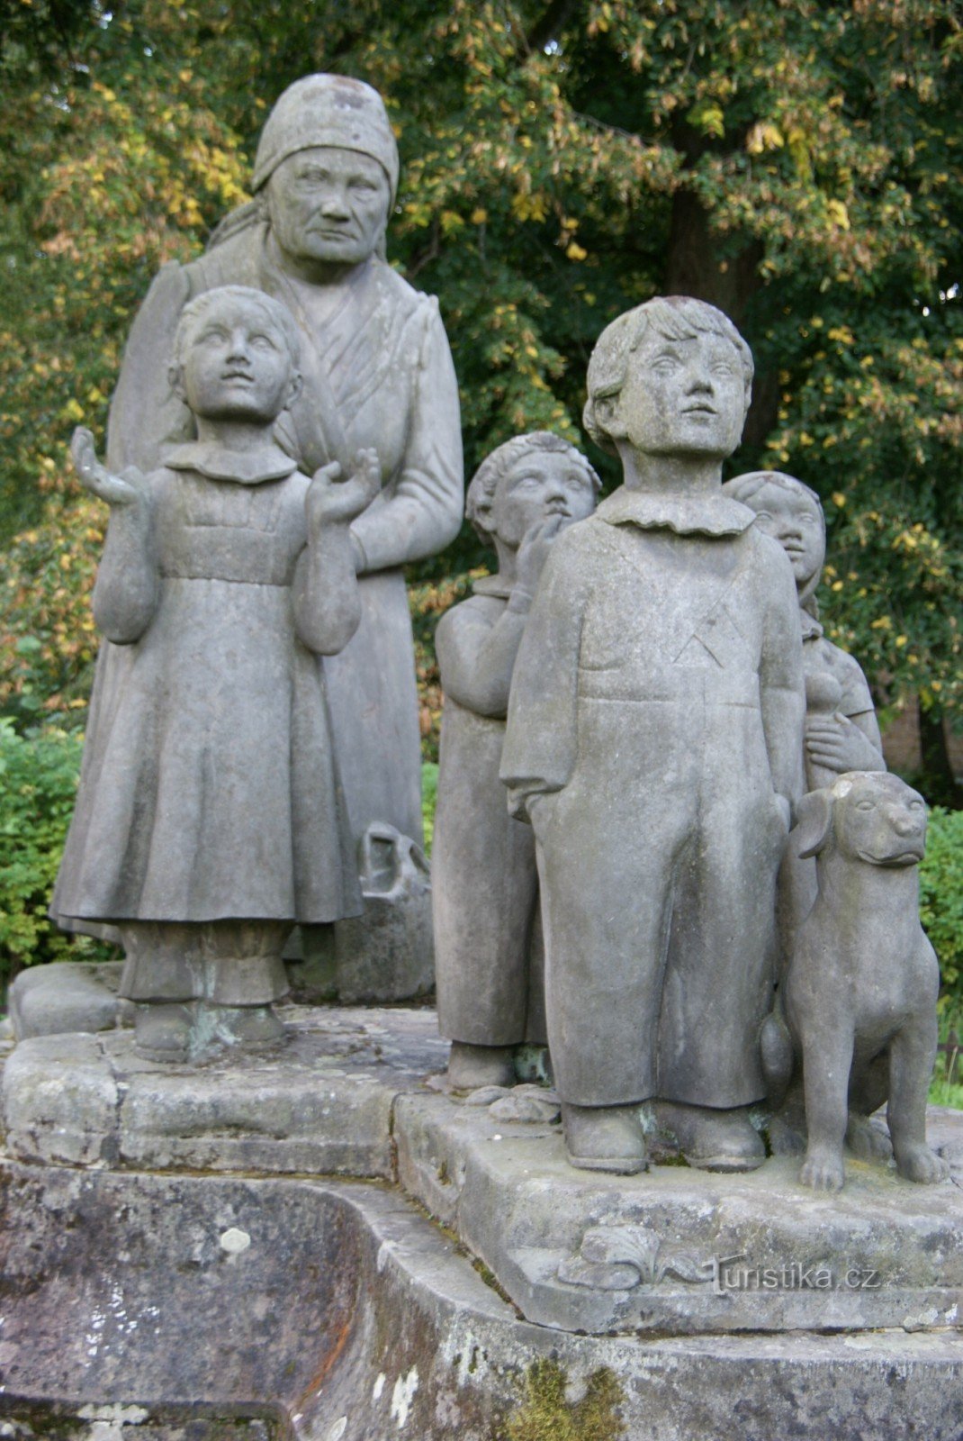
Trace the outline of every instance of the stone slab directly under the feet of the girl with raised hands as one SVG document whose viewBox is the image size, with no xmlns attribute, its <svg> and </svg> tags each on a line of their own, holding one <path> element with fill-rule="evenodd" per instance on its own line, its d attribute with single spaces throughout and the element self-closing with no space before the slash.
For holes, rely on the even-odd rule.
<svg viewBox="0 0 963 1441">
<path fill-rule="evenodd" d="M 124 1030 L 22 1042 L 3 1079 L 7 1144 L 55 1164 L 390 1177 L 394 1098 L 446 1059 L 435 1013 L 282 1014 L 286 1045 L 206 1066 L 145 1061 Z"/>
</svg>

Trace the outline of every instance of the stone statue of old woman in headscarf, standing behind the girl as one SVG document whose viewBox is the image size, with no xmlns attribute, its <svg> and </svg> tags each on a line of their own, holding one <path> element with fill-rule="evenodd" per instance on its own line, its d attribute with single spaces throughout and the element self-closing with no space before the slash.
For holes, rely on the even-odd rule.
<svg viewBox="0 0 963 1441">
<path fill-rule="evenodd" d="M 240 284 L 279 300 L 301 336 L 304 389 L 275 428 L 299 470 L 309 476 L 337 461 L 350 474 L 358 451 L 377 451 L 380 490 L 351 526 L 361 623 L 341 654 L 320 661 L 357 842 L 373 823 L 420 842 L 402 566 L 443 549 L 464 506 L 458 386 L 438 303 L 384 261 L 397 176 L 394 135 L 370 85 L 340 75 L 291 85 L 261 135 L 253 200 L 222 222 L 203 256 L 167 265 L 154 280 L 131 330 L 108 434 L 114 473 L 151 471 L 170 447 L 193 438 L 193 418 L 167 375 L 177 320 L 199 293 Z M 101 664 L 122 669 L 122 651 L 105 646 Z"/>
</svg>

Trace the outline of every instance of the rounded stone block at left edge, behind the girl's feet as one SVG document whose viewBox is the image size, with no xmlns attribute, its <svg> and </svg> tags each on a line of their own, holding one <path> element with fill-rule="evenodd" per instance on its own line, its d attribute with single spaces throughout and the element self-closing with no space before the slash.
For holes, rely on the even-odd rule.
<svg viewBox="0 0 963 1441">
<path fill-rule="evenodd" d="M 117 987 L 122 970 L 122 961 L 56 961 L 20 971 L 7 996 L 16 1039 L 121 1025 L 125 1007 Z"/>
</svg>

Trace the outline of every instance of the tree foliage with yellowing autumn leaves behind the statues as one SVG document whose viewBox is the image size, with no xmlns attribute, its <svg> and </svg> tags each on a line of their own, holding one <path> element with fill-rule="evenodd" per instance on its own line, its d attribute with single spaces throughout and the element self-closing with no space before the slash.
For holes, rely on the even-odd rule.
<svg viewBox="0 0 963 1441">
<path fill-rule="evenodd" d="M 0 594 L 0 710 L 27 723 L 37 700 L 58 710 L 82 699 L 88 679 L 79 615 L 102 516 L 68 476 L 72 425 L 102 432 L 151 275 L 196 255 L 243 197 L 268 105 L 307 71 L 334 69 L 376 85 L 396 125 L 389 254 L 439 295 L 469 474 L 527 428 L 579 440 L 587 356 L 619 310 L 659 291 L 711 300 L 757 360 L 730 470 L 777 465 L 816 487 L 829 634 L 859 657 L 878 700 L 910 689 L 933 715 L 959 716 L 953 7 L 23 6 L 36 23 L 7 6 L 16 23 L 0 46 L 0 535 L 37 539 L 17 545 Z M 615 463 L 593 460 L 612 483 Z M 58 545 L 71 553 L 59 578 Z M 415 579 L 443 585 L 482 561 L 465 529 Z M 40 650 L 19 651 L 23 640 Z M 419 667 L 430 754 L 428 648 Z"/>
</svg>

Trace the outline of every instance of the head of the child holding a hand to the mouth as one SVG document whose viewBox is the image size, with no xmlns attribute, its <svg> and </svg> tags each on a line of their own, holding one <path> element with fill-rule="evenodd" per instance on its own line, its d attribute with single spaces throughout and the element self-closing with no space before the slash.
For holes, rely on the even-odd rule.
<svg viewBox="0 0 963 1441">
<path fill-rule="evenodd" d="M 550 516 L 584 520 L 594 510 L 602 481 L 569 441 L 533 431 L 505 441 L 475 471 L 465 513 L 488 545 L 517 550 L 531 526 Z"/>
</svg>

